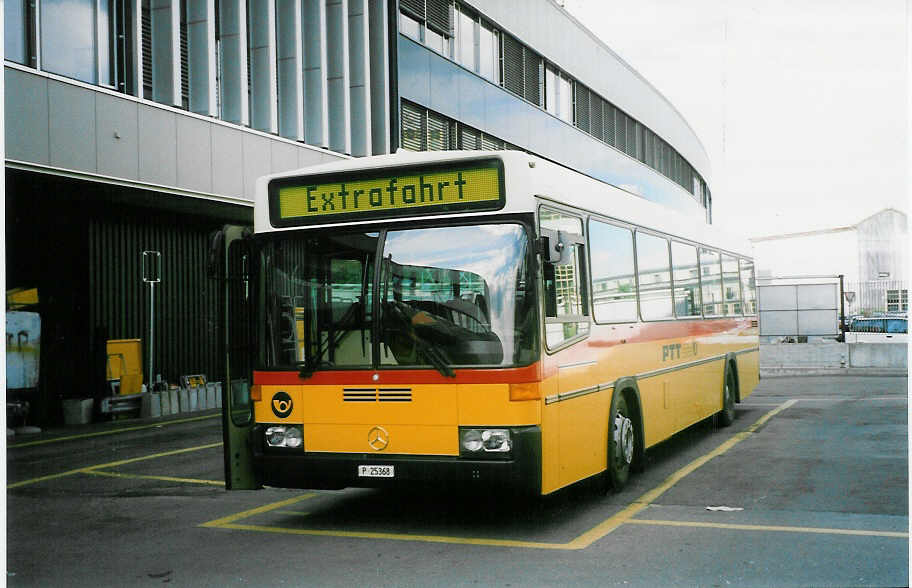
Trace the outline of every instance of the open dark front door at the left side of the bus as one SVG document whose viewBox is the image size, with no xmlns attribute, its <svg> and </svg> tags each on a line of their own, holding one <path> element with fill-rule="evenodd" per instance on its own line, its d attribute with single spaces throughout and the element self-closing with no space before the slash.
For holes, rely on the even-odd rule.
<svg viewBox="0 0 912 588">
<path fill-rule="evenodd" d="M 218 280 L 218 345 L 222 380 L 222 437 L 225 488 L 260 487 L 253 470 L 253 403 L 250 386 L 253 345 L 254 257 L 248 227 L 226 225 L 213 236 L 209 274 Z"/>
</svg>

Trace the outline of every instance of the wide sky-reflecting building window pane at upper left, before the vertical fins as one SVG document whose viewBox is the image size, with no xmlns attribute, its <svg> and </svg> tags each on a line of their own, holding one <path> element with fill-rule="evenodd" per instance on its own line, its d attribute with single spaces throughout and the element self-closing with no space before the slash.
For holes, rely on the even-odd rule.
<svg viewBox="0 0 912 588">
<path fill-rule="evenodd" d="M 95 0 L 41 3 L 41 68 L 94 84 Z"/>
</svg>

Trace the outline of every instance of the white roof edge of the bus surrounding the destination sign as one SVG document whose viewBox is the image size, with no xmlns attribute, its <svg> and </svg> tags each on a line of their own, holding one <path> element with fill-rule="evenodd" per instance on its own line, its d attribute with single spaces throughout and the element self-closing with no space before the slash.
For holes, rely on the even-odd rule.
<svg viewBox="0 0 912 588">
<path fill-rule="evenodd" d="M 589 176 L 562 167 L 522 151 L 402 151 L 391 155 L 360 157 L 311 166 L 291 172 L 261 177 L 256 185 L 254 228 L 257 233 L 361 225 L 365 227 L 388 223 L 389 219 L 371 219 L 347 222 L 311 224 L 303 227 L 275 227 L 270 222 L 269 185 L 274 180 L 293 181 L 300 178 L 306 184 L 308 177 L 346 173 L 363 173 L 388 168 L 413 168 L 423 165 L 454 165 L 478 159 L 497 159 L 504 166 L 506 202 L 495 211 L 450 212 L 422 215 L 423 220 L 452 219 L 454 217 L 479 217 L 492 214 L 534 212 L 543 201 L 552 201 L 645 229 L 652 229 L 689 241 L 712 245 L 732 253 L 750 256 L 750 243 L 744 237 L 728 234 L 706 224 L 702 215 L 688 215 L 625 191 L 617 186 L 595 180 Z M 403 217 L 405 220 L 412 217 Z M 344 219 L 343 219 L 344 220 Z"/>
</svg>

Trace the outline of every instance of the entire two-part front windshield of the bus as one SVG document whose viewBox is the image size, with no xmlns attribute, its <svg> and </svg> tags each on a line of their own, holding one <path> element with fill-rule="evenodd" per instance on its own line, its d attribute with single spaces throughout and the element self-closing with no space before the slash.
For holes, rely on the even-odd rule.
<svg viewBox="0 0 912 588">
<path fill-rule="evenodd" d="M 267 369 L 451 375 L 537 358 L 529 238 L 519 224 L 281 233 L 262 251 Z"/>
</svg>

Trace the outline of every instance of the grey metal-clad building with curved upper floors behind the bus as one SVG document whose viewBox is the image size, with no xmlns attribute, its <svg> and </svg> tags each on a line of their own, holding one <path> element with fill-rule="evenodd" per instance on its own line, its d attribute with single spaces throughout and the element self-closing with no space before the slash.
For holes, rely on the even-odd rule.
<svg viewBox="0 0 912 588">
<path fill-rule="evenodd" d="M 38 288 L 37 420 L 104 341 L 218 373 L 208 238 L 261 175 L 397 149 L 519 149 L 711 222 L 674 107 L 552 0 L 9 0 L 7 284 Z"/>
</svg>

